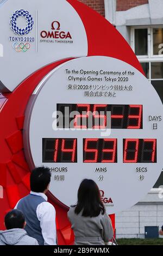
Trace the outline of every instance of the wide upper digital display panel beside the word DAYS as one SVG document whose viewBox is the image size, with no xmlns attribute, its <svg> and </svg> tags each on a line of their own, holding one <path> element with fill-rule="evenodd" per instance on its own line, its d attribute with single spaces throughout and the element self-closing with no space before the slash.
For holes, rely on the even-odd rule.
<svg viewBox="0 0 163 256">
<path fill-rule="evenodd" d="M 107 113 L 111 113 L 111 124 Z M 57 104 L 61 129 L 142 129 L 142 105 Z"/>
</svg>

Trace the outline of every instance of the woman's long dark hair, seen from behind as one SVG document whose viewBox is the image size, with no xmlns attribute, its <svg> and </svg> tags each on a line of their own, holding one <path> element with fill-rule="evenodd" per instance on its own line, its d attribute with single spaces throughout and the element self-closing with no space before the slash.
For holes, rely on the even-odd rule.
<svg viewBox="0 0 163 256">
<path fill-rule="evenodd" d="M 93 180 L 84 179 L 79 186 L 75 213 L 79 214 L 82 210 L 82 216 L 85 217 L 96 217 L 100 213 L 105 213 L 99 188 Z"/>
</svg>

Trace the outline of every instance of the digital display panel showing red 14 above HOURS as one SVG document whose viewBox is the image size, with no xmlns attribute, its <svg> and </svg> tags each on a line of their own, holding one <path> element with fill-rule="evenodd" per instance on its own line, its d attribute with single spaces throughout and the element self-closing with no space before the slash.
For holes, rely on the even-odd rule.
<svg viewBox="0 0 163 256">
<path fill-rule="evenodd" d="M 77 139 L 74 138 L 43 138 L 43 163 L 76 163 Z"/>
</svg>

